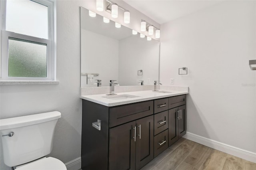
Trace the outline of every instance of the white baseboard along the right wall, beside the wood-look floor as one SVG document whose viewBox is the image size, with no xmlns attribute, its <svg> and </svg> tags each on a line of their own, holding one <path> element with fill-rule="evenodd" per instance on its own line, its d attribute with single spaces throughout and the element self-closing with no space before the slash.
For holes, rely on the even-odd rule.
<svg viewBox="0 0 256 170">
<path fill-rule="evenodd" d="M 255 152 L 250 152 L 248 150 L 244 150 L 244 149 L 237 148 L 237 147 L 234 147 L 234 146 L 231 146 L 228 144 L 224 144 L 222 142 L 218 142 L 216 140 L 205 138 L 203 136 L 199 136 L 197 134 L 193 134 L 190 132 L 187 132 L 183 137 L 186 139 L 192 140 L 194 142 L 200 143 L 202 145 L 208 146 L 210 148 L 214 148 L 216 150 L 220 150 L 227 154 L 231 154 L 231 155 L 237 156 L 239 158 L 248 160 L 250 162 L 256 163 L 256 153 Z"/>
</svg>

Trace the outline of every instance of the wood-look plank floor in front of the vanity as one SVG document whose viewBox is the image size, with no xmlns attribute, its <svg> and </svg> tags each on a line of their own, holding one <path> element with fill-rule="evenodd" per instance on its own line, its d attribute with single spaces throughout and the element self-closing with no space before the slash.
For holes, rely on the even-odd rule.
<svg viewBox="0 0 256 170">
<path fill-rule="evenodd" d="M 256 164 L 181 138 L 141 170 L 256 170 Z"/>
</svg>

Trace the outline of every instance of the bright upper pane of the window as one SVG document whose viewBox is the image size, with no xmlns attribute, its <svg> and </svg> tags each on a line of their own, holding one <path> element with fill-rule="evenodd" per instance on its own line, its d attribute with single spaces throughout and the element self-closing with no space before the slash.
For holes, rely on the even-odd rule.
<svg viewBox="0 0 256 170">
<path fill-rule="evenodd" d="M 48 39 L 48 7 L 30 0 L 7 0 L 6 31 Z"/>
</svg>

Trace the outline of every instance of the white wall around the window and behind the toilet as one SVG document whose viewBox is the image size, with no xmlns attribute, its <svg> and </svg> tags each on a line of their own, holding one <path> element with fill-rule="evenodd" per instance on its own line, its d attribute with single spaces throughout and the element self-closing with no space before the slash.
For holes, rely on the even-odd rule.
<svg viewBox="0 0 256 170">
<path fill-rule="evenodd" d="M 57 0 L 58 85 L 0 86 L 0 119 L 54 110 L 62 113 L 62 118 L 56 125 L 50 156 L 64 163 L 81 156 L 80 6 L 96 12 L 95 4 L 95 0 Z M 130 28 L 138 27 L 136 20 L 150 20 L 126 3 L 120 1 L 120 5 L 131 12 Z M 100 13 L 102 16 L 109 16 L 109 13 Z M 3 162 L 2 145 L 0 149 L 0 169 L 10 170 Z"/>
</svg>

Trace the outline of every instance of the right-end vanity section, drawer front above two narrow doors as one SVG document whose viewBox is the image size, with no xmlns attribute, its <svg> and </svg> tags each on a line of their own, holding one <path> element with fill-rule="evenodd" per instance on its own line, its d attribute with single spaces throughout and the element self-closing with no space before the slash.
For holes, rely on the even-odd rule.
<svg viewBox="0 0 256 170">
<path fill-rule="evenodd" d="M 174 142 L 186 134 L 186 95 L 170 97 L 169 107 L 174 107 L 168 110 L 168 142 L 169 146 L 171 146 Z"/>
</svg>

